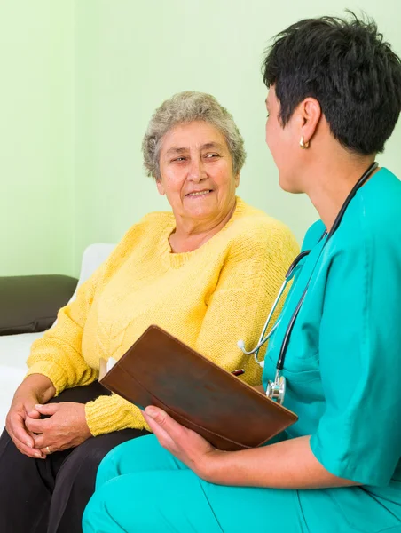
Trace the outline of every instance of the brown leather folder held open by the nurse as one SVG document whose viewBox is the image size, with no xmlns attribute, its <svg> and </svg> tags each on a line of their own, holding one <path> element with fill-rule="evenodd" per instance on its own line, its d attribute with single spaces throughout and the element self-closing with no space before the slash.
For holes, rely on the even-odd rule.
<svg viewBox="0 0 401 533">
<path fill-rule="evenodd" d="M 160 407 L 226 451 L 261 446 L 297 420 L 157 326 L 145 330 L 100 383 L 141 409 Z"/>
</svg>

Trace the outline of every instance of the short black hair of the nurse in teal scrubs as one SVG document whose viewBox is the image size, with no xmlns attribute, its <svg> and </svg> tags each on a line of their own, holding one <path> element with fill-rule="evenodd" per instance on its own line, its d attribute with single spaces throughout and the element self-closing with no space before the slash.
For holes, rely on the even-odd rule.
<svg viewBox="0 0 401 533">
<path fill-rule="evenodd" d="M 283 127 L 312 97 L 343 147 L 373 155 L 401 112 L 401 60 L 373 20 L 350 15 L 305 19 L 280 32 L 263 60 L 263 81 L 275 87 Z"/>
</svg>

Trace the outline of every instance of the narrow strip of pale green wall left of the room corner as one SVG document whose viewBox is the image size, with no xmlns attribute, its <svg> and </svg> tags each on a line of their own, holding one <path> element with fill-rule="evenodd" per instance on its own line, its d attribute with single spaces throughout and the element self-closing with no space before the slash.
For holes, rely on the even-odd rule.
<svg viewBox="0 0 401 533">
<path fill-rule="evenodd" d="M 0 0 L 0 275 L 75 268 L 73 7 Z"/>
</svg>

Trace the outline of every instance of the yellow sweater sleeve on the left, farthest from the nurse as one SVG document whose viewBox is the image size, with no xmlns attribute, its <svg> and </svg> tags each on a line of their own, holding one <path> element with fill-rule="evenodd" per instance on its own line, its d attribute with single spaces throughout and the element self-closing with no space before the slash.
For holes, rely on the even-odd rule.
<svg viewBox="0 0 401 533">
<path fill-rule="evenodd" d="M 32 345 L 27 376 L 43 374 L 51 379 L 56 395 L 66 388 L 89 385 L 98 378 L 98 369 L 91 368 L 83 358 L 83 329 L 90 307 L 129 255 L 140 228 L 140 223 L 130 228 L 108 259 L 83 283 L 75 301 L 59 310 L 57 324 Z"/>
</svg>

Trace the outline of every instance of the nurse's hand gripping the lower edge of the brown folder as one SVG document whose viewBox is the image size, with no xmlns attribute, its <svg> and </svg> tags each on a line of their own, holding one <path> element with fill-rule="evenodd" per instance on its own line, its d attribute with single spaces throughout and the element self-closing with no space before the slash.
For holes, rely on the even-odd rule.
<svg viewBox="0 0 401 533">
<path fill-rule="evenodd" d="M 191 468 L 199 477 L 208 479 L 211 465 L 224 452 L 214 448 L 201 435 L 178 424 L 157 407 L 146 407 L 144 417 L 163 448 Z"/>
</svg>

